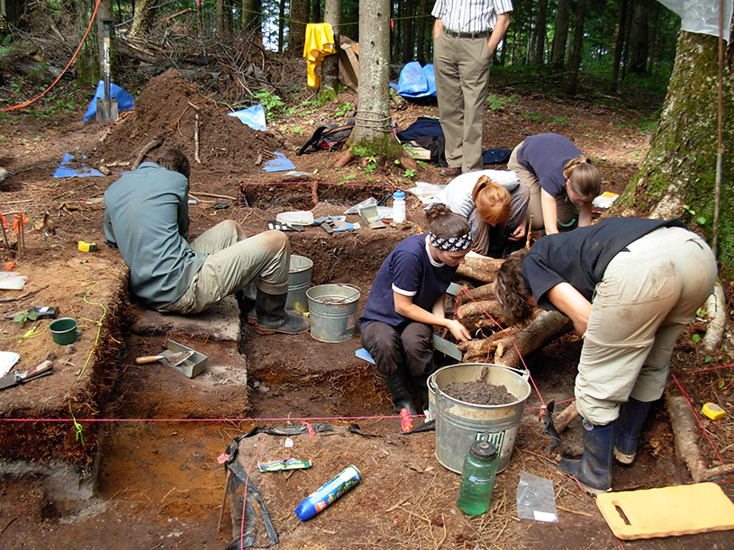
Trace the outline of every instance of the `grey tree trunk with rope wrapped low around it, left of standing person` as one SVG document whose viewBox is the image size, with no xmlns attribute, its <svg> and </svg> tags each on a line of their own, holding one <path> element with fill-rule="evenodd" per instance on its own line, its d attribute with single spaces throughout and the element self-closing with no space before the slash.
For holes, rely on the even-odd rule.
<svg viewBox="0 0 734 550">
<path fill-rule="evenodd" d="M 390 2 L 359 3 L 359 91 L 357 117 L 349 136 L 350 149 L 363 146 L 371 154 L 394 157 L 398 146 L 390 126 Z"/>
</svg>

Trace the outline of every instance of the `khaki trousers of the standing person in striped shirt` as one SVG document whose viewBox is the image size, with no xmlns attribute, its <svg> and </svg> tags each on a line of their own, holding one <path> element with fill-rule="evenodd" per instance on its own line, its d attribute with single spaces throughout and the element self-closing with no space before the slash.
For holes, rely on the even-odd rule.
<svg viewBox="0 0 734 550">
<path fill-rule="evenodd" d="M 433 43 L 446 162 L 464 173 L 484 167 L 482 140 L 490 58 L 486 37 L 451 38 L 441 32 Z"/>
</svg>

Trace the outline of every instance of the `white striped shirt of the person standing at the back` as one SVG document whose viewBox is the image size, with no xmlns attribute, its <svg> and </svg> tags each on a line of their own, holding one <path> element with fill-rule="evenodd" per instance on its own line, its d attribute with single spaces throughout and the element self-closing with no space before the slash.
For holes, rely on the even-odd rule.
<svg viewBox="0 0 734 550">
<path fill-rule="evenodd" d="M 448 31 L 485 32 L 507 12 L 512 12 L 511 0 L 436 0 L 430 14 Z"/>
</svg>

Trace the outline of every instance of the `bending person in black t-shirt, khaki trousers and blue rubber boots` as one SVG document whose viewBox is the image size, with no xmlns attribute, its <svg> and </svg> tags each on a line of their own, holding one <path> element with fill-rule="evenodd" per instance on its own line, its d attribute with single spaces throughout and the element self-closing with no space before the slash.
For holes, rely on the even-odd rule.
<svg viewBox="0 0 734 550">
<path fill-rule="evenodd" d="M 612 457 L 631 464 L 663 394 L 675 340 L 713 291 L 716 259 L 683 221 L 608 218 L 513 252 L 494 279 L 505 322 L 534 305 L 573 320 L 584 346 L 575 406 L 584 455 L 559 468 L 587 491 L 612 487 Z"/>
</svg>

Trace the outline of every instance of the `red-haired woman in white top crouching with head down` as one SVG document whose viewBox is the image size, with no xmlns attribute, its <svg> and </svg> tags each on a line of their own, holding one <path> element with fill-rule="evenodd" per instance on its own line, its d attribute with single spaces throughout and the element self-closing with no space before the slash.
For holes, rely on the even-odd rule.
<svg viewBox="0 0 734 550">
<path fill-rule="evenodd" d="M 455 177 L 431 203 L 467 218 L 477 254 L 505 257 L 525 244 L 529 201 L 530 189 L 514 172 L 479 170 Z"/>
</svg>

